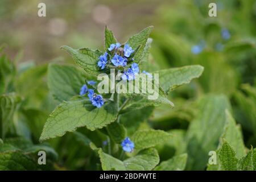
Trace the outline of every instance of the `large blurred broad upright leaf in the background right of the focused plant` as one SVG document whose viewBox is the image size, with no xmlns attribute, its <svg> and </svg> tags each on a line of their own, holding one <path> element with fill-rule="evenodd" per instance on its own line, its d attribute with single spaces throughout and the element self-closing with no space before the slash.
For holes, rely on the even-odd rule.
<svg viewBox="0 0 256 182">
<path fill-rule="evenodd" d="M 208 153 L 216 150 L 224 130 L 225 110 L 230 110 L 228 98 L 214 94 L 200 98 L 197 107 L 199 111 L 191 122 L 186 136 L 188 170 L 203 170 L 207 166 Z"/>
</svg>

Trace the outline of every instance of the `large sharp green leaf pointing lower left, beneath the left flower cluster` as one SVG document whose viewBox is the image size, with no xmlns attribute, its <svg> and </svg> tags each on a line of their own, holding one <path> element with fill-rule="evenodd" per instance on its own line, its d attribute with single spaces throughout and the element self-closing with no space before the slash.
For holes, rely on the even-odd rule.
<svg viewBox="0 0 256 182">
<path fill-rule="evenodd" d="M 86 126 L 89 130 L 101 129 L 117 119 L 117 106 L 114 102 L 94 107 L 88 100 L 63 102 L 49 115 L 44 125 L 40 141 L 61 137 L 67 131 Z"/>
</svg>

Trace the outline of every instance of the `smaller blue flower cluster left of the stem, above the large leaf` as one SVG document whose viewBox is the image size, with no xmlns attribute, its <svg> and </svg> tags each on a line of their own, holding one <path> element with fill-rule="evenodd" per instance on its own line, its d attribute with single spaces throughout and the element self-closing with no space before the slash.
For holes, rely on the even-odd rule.
<svg viewBox="0 0 256 182">
<path fill-rule="evenodd" d="M 89 85 L 95 85 L 95 81 L 88 81 Z M 104 105 L 104 99 L 101 95 L 94 93 L 93 89 L 88 89 L 88 86 L 86 84 L 82 85 L 80 89 L 80 96 L 84 96 L 86 93 L 88 93 L 88 98 L 92 102 L 92 105 L 100 108 Z"/>
</svg>

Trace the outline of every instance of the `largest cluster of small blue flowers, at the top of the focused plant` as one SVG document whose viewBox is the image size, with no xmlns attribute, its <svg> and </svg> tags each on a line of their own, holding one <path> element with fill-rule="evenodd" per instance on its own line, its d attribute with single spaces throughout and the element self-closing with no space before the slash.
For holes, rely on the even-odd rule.
<svg viewBox="0 0 256 182">
<path fill-rule="evenodd" d="M 104 69 L 108 63 L 112 63 L 115 67 L 126 67 L 129 61 L 133 61 L 131 55 L 134 50 L 129 44 L 124 46 L 120 43 L 111 44 L 108 51 L 99 57 L 98 67 L 101 69 Z M 137 63 L 133 63 L 130 68 L 123 70 L 122 80 L 134 80 L 138 73 L 139 66 Z"/>
</svg>

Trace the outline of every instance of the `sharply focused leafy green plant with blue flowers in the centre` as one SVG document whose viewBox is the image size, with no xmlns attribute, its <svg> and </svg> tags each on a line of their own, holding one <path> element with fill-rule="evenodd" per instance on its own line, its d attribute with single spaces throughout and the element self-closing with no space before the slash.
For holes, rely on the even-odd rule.
<svg viewBox="0 0 256 182">
<path fill-rule="evenodd" d="M 143 120 L 146 122 L 154 107 L 161 104 L 173 107 L 174 104 L 168 99 L 171 90 L 176 88 L 175 85 L 180 86 L 199 77 L 203 67 L 192 65 L 157 70 L 157 64 L 156 66 L 152 64 L 154 60 L 152 62 L 149 60 L 152 39 L 148 36 L 151 29 L 152 27 L 144 28 L 138 34 L 131 36 L 126 43 L 121 44 L 115 39 L 113 32 L 106 27 L 104 51 L 61 47 L 82 69 L 73 65 L 49 65 L 49 75 L 53 79 L 57 78 L 57 81 L 49 82 L 49 89 L 61 103 L 49 115 L 40 141 L 63 136 L 79 127 L 86 127 L 86 130 L 80 130 L 81 133 L 76 132 L 74 137 L 79 137 L 77 139 L 82 140 L 82 143 L 96 152 L 102 169 L 133 170 L 138 169 L 139 166 L 139 169 L 142 167 L 151 170 L 158 165 L 159 155 L 154 147 L 156 144 L 166 143 L 173 136 L 163 130 L 148 128 L 141 130 L 134 127 L 139 124 L 138 117 L 134 116 L 145 114 Z M 152 75 L 147 71 L 154 71 L 154 74 L 158 75 L 148 79 L 148 76 L 152 77 Z M 144 74 L 142 79 L 139 74 Z M 101 77 L 102 75 L 104 76 Z M 112 88 L 113 83 L 110 82 L 106 84 L 109 88 L 106 88 L 108 90 L 105 92 L 105 85 L 102 84 L 105 79 L 99 83 L 91 80 L 97 76 L 108 77 L 110 81 L 113 76 L 114 89 L 109 89 Z M 140 79 L 134 81 L 135 78 Z M 116 92 L 118 86 L 122 90 L 130 85 L 134 86 L 133 92 Z M 104 86 L 104 92 L 97 89 L 100 86 Z M 77 94 L 80 96 L 75 96 Z M 133 133 L 132 140 L 127 137 L 131 133 Z M 131 152 L 134 154 L 128 154 Z M 107 162 L 113 165 L 108 165 Z"/>
</svg>

